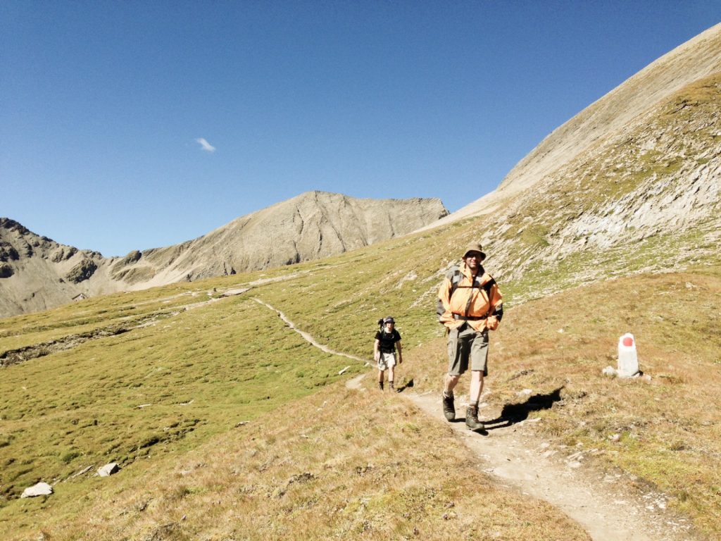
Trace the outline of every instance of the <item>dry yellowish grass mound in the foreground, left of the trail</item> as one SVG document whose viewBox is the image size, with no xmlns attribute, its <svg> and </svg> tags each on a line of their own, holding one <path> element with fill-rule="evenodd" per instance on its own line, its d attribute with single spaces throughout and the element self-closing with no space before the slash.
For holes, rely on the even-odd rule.
<svg viewBox="0 0 721 541">
<path fill-rule="evenodd" d="M 52 540 L 586 540 L 547 503 L 492 485 L 451 431 L 341 384 L 137 481 L 114 478 Z M 136 467 L 136 466 L 133 466 Z"/>
</svg>

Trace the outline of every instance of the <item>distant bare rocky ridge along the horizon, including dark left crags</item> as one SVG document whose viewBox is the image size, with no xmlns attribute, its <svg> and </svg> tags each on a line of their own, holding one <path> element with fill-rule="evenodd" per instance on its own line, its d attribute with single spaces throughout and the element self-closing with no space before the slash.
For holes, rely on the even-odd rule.
<svg viewBox="0 0 721 541">
<path fill-rule="evenodd" d="M 72 299 L 262 270 L 337 255 L 446 216 L 438 198 L 358 199 L 307 192 L 198 239 L 105 258 L 0 218 L 0 317 Z"/>
</svg>

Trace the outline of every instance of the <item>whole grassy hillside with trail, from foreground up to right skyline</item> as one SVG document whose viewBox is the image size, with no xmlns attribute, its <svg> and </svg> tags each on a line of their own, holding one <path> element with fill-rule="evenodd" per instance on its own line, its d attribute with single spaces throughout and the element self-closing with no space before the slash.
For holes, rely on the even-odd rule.
<svg viewBox="0 0 721 541">
<path fill-rule="evenodd" d="M 618 495 L 627 539 L 719 539 L 720 111 L 717 25 L 423 229 L 0 320 L 0 537 L 613 538 L 584 522 L 593 509 L 503 478 L 542 458 L 562 472 L 550 492 L 567 477 L 589 502 Z M 505 307 L 487 436 L 441 413 L 435 302 L 472 242 Z M 397 393 L 372 361 L 388 315 Z M 627 332 L 642 374 L 604 374 Z M 461 379 L 459 403 L 468 392 Z M 494 440 L 524 458 L 495 462 Z M 53 493 L 21 498 L 40 481 Z"/>
</svg>

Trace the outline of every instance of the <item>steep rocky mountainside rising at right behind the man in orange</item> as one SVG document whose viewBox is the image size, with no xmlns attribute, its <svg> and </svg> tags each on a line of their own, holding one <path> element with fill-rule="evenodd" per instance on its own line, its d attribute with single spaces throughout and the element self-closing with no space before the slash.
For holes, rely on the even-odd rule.
<svg viewBox="0 0 721 541">
<path fill-rule="evenodd" d="M 466 207 L 482 216 L 475 236 L 496 272 L 532 298 L 609 273 L 717 260 L 720 111 L 717 25 L 554 131 Z"/>
</svg>

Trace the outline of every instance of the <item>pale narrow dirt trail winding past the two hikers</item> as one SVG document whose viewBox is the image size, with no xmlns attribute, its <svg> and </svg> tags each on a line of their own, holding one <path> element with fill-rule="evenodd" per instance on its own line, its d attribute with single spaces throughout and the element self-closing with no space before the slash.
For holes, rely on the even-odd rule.
<svg viewBox="0 0 721 541">
<path fill-rule="evenodd" d="M 346 353 L 332 351 L 317 343 L 308 333 L 293 325 L 279 310 L 283 321 L 313 346 L 368 364 Z M 363 390 L 367 374 L 346 382 L 351 389 Z M 378 392 L 375 389 L 371 392 Z M 593 541 L 684 541 L 690 539 L 690 524 L 665 511 L 665 498 L 660 493 L 646 493 L 643 498 L 624 493 L 620 475 L 601 475 L 584 467 L 583 460 L 593 449 L 554 449 L 536 434 L 534 418 L 517 423 L 489 425 L 487 435 L 469 431 L 464 423 L 463 397 L 456 397 L 459 421 L 448 423 L 441 410 L 441 393 L 418 394 L 405 389 L 397 395 L 410 400 L 428 416 L 450 426 L 456 436 L 477 459 L 479 467 L 498 480 L 500 485 L 551 503 L 585 527 Z M 500 419 L 501 412 L 482 407 L 479 418 Z"/>
</svg>

